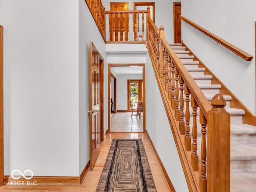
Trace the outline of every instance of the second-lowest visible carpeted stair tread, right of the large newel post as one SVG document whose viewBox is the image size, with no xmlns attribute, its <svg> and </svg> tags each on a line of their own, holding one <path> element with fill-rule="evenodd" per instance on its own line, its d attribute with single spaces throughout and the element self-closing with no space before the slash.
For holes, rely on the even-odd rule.
<svg viewBox="0 0 256 192">
<path fill-rule="evenodd" d="M 230 161 L 256 160 L 255 144 L 232 144 L 230 147 Z"/>
</svg>

